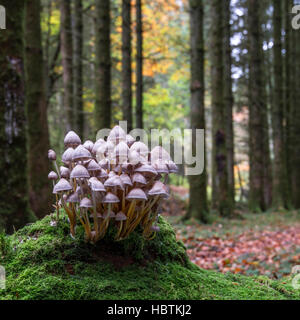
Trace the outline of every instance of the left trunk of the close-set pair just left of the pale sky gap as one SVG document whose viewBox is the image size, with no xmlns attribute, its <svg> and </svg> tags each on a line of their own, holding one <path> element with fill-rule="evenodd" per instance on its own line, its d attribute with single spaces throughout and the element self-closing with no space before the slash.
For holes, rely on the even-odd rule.
<svg viewBox="0 0 300 320">
<path fill-rule="evenodd" d="M 217 203 L 213 204 L 223 216 L 232 214 L 231 194 L 228 189 L 226 120 L 223 101 L 223 15 L 222 2 L 211 3 L 211 87 L 212 87 L 212 174 L 213 193 Z"/>
</svg>

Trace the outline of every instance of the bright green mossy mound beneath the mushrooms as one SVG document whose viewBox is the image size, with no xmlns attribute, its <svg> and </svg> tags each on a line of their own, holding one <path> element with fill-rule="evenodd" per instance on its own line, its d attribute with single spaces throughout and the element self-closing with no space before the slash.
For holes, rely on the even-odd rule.
<svg viewBox="0 0 300 320">
<path fill-rule="evenodd" d="M 83 230 L 69 235 L 65 218 L 50 217 L 0 238 L 6 290 L 0 299 L 298 299 L 289 284 L 199 269 L 190 263 L 172 227 L 144 241 L 137 230 L 114 242 L 113 228 L 97 245 Z"/>
</svg>

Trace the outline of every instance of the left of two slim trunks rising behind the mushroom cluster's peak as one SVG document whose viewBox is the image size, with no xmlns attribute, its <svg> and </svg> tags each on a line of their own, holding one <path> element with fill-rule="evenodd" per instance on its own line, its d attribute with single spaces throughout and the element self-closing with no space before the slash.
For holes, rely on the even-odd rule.
<svg viewBox="0 0 300 320">
<path fill-rule="evenodd" d="M 122 0 L 122 104 L 123 119 L 132 130 L 131 0 Z"/>
</svg>

